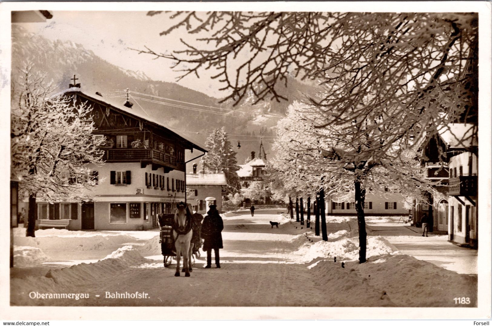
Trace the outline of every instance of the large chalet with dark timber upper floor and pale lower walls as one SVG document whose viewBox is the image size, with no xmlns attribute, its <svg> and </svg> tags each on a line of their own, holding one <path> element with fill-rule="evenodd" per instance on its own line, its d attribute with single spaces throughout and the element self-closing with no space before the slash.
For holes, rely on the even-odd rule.
<svg viewBox="0 0 492 326">
<path fill-rule="evenodd" d="M 71 85 L 72 86 L 72 85 Z M 38 202 L 39 219 L 70 219 L 69 230 L 147 230 L 157 214 L 185 202 L 185 150 L 206 150 L 171 131 L 126 101 L 117 104 L 80 85 L 55 96 L 92 108 L 94 137 L 104 137 L 103 164 L 89 164 L 96 180 L 93 201 Z"/>
</svg>

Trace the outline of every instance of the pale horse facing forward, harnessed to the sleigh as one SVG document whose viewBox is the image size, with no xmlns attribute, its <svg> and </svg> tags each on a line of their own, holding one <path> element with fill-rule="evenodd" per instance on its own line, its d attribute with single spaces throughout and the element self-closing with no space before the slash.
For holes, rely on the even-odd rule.
<svg viewBox="0 0 492 326">
<path fill-rule="evenodd" d="M 183 271 L 184 276 L 189 277 L 191 269 L 191 238 L 193 230 L 191 229 L 192 221 L 191 214 L 186 207 L 186 204 L 179 203 L 176 212 L 174 213 L 173 237 L 176 246 L 176 273 L 174 276 L 180 276 L 180 260 L 183 255 Z"/>
</svg>

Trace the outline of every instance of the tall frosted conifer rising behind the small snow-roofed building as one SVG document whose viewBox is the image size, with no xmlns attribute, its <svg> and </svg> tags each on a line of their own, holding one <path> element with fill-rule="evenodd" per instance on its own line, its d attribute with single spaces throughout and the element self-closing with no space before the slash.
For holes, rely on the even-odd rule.
<svg viewBox="0 0 492 326">
<path fill-rule="evenodd" d="M 231 195 L 238 192 L 241 189 L 237 174 L 239 166 L 236 152 L 232 149 L 225 127 L 212 130 L 205 146 L 209 148 L 209 152 L 200 160 L 202 171 L 205 173 L 223 172 L 227 181 L 223 190 Z"/>
</svg>

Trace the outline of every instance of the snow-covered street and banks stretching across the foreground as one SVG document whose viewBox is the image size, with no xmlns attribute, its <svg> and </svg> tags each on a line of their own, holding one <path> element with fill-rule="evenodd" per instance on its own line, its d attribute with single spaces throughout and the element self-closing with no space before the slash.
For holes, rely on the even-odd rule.
<svg viewBox="0 0 492 326">
<path fill-rule="evenodd" d="M 301 229 L 278 210 L 257 209 L 254 217 L 248 210 L 222 214 L 222 268 L 203 268 L 202 252 L 189 278 L 174 276 L 174 261 L 170 268 L 163 267 L 158 231 L 48 229 L 26 238 L 19 228 L 14 235 L 11 304 L 476 306 L 477 277 L 468 275 L 472 268 L 459 270 L 461 274 L 453 271 L 463 265 L 462 257 L 470 264 L 475 259 L 476 266 L 476 252 L 447 243 L 443 236 L 423 238 L 401 223 L 395 225 L 393 217 L 368 217 L 369 261 L 358 264 L 355 217 L 328 216 L 329 240 L 321 241 L 314 236 L 314 223 L 312 230 Z M 269 221 L 281 224 L 271 228 Z M 451 247 L 433 250 L 430 256 L 422 251 L 430 244 Z M 461 258 L 453 248 L 465 250 Z M 422 260 L 409 256 L 414 254 Z M 116 298 L 137 292 L 140 297 Z M 32 293 L 89 297 L 43 299 L 31 298 Z M 469 297 L 470 304 L 455 304 L 458 296 Z"/>
</svg>

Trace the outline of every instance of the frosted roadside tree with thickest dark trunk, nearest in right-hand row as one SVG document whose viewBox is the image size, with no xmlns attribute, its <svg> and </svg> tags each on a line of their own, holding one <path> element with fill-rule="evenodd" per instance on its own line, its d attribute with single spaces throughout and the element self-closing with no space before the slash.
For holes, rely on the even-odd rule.
<svg viewBox="0 0 492 326">
<path fill-rule="evenodd" d="M 384 119 L 384 114 L 383 111 L 377 119 Z M 352 121 L 318 128 L 316 123 L 322 115 L 316 107 L 300 102 L 289 106 L 287 117 L 277 124 L 274 149 L 278 154 L 274 167 L 283 172 L 287 183 L 323 190 L 339 201 L 355 200 L 359 261 L 364 263 L 366 192 L 388 186 L 404 196 L 417 196 L 425 189 L 431 190 L 431 184 L 423 178 L 410 144 L 404 140 L 387 144 L 391 124 L 365 119 L 364 123 Z M 382 127 L 371 128 L 375 123 Z"/>
</svg>

